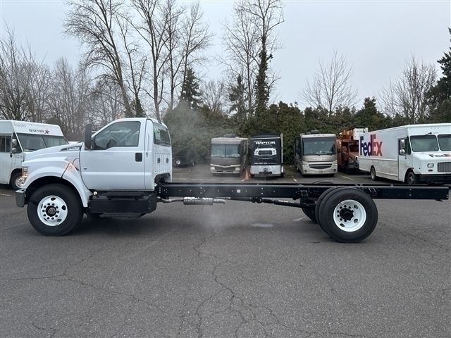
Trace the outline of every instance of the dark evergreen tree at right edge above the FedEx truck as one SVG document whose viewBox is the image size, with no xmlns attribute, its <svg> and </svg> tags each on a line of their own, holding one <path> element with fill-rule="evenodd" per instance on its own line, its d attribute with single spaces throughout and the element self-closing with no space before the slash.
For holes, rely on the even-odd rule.
<svg viewBox="0 0 451 338">
<path fill-rule="evenodd" d="M 451 34 L 451 29 L 448 30 Z M 438 63 L 443 76 L 428 92 L 429 122 L 447 123 L 451 122 L 451 47 Z"/>
</svg>

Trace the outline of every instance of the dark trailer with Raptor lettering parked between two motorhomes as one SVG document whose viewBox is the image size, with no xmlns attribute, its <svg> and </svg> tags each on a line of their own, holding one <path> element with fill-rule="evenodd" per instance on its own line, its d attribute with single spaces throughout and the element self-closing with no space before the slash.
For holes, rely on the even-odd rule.
<svg viewBox="0 0 451 338">
<path fill-rule="evenodd" d="M 250 173 L 254 176 L 285 175 L 283 170 L 283 135 L 256 135 L 250 138 Z"/>
</svg>

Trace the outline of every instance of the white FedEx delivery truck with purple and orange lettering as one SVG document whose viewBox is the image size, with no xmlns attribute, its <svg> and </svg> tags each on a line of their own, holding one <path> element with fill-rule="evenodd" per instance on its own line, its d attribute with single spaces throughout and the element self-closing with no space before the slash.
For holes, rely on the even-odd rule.
<svg viewBox="0 0 451 338">
<path fill-rule="evenodd" d="M 451 123 L 404 125 L 359 136 L 359 169 L 416 184 L 451 182 Z"/>
</svg>

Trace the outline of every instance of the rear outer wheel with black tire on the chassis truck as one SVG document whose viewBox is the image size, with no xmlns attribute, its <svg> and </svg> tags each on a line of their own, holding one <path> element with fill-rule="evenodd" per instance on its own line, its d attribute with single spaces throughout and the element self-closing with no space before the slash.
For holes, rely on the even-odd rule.
<svg viewBox="0 0 451 338">
<path fill-rule="evenodd" d="M 318 218 L 321 227 L 335 241 L 357 243 L 373 232 L 378 223 L 378 209 L 365 192 L 340 187 L 323 199 Z"/>
</svg>

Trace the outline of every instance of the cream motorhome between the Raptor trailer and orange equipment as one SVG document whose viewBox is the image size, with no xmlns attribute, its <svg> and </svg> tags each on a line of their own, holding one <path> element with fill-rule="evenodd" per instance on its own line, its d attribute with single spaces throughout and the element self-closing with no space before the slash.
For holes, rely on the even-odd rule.
<svg viewBox="0 0 451 338">
<path fill-rule="evenodd" d="M 302 175 L 335 175 L 337 147 L 335 134 L 312 130 L 295 138 L 295 168 Z"/>
</svg>

